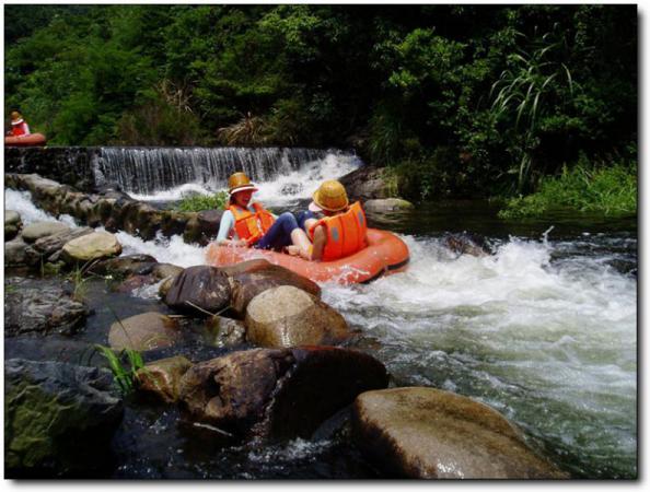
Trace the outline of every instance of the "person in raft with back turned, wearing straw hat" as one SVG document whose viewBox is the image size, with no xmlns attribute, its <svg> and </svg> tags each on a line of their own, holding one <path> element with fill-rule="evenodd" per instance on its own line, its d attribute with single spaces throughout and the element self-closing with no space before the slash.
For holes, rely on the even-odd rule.
<svg viewBox="0 0 650 492">
<path fill-rule="evenodd" d="M 349 204 L 344 186 L 336 180 L 321 184 L 309 211 L 299 215 L 310 243 L 297 241 L 298 254 L 310 261 L 333 261 L 368 245 L 365 213 L 358 201 Z M 302 231 L 301 231 L 302 232 Z"/>
</svg>

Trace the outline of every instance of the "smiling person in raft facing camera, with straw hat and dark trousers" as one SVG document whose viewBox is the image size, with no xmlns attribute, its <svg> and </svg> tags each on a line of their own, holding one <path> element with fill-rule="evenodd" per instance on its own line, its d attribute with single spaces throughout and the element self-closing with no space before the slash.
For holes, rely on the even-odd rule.
<svg viewBox="0 0 650 492">
<path fill-rule="evenodd" d="M 228 179 L 230 200 L 221 216 L 217 242 L 220 245 L 282 250 L 295 244 L 303 249 L 309 239 L 291 212 L 276 218 L 260 203 L 252 202 L 255 185 L 244 173 L 234 173 Z M 298 254 L 298 249 L 292 249 Z"/>
</svg>

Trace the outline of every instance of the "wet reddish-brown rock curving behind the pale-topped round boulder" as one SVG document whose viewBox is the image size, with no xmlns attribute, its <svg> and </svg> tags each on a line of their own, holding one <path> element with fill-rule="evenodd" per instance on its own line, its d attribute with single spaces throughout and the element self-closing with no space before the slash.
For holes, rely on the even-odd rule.
<svg viewBox="0 0 650 492">
<path fill-rule="evenodd" d="M 246 307 L 253 297 L 276 286 L 292 285 L 316 297 L 321 296 L 321 288 L 317 283 L 287 268 L 271 265 L 265 259 L 244 261 L 234 267 L 222 268 L 222 270 L 231 279 L 231 307 L 240 317 L 244 317 Z"/>
</svg>

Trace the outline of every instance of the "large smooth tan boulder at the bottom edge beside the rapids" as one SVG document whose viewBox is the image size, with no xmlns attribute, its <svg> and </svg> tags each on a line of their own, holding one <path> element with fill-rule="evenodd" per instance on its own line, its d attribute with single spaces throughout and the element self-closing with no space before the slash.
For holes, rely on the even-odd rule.
<svg viewBox="0 0 650 492">
<path fill-rule="evenodd" d="M 461 395 L 411 387 L 353 405 L 356 444 L 383 469 L 419 479 L 567 478 L 499 412 Z"/>
</svg>

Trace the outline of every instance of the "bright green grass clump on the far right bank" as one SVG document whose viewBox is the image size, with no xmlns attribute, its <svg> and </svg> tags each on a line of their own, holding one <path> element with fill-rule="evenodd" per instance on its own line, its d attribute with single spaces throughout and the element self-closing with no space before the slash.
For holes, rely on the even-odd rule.
<svg viewBox="0 0 650 492">
<path fill-rule="evenodd" d="M 562 208 L 605 215 L 636 214 L 636 165 L 591 167 L 578 164 L 571 171 L 565 166 L 560 176 L 543 179 L 537 192 L 508 200 L 499 216 L 541 216 Z"/>
</svg>

